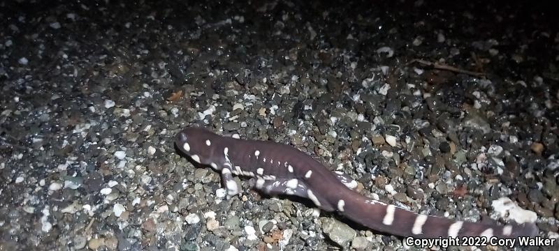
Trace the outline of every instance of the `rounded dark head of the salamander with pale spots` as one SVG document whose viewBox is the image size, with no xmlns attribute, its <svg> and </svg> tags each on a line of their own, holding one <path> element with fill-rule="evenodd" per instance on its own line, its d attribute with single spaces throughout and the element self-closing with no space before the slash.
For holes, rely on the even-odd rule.
<svg viewBox="0 0 559 251">
<path fill-rule="evenodd" d="M 189 155 L 192 160 L 203 165 L 212 164 L 212 154 L 215 147 L 212 144 L 217 135 L 203 128 L 185 128 L 175 137 L 175 144 L 182 153 Z"/>
</svg>

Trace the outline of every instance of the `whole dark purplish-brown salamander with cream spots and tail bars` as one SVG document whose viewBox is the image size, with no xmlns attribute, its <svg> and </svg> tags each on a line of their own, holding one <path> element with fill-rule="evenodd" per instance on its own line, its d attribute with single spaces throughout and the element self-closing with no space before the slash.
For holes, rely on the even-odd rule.
<svg viewBox="0 0 559 251">
<path fill-rule="evenodd" d="M 180 131 L 175 144 L 192 161 L 219 171 L 228 197 L 240 192 L 233 175 L 249 176 L 255 190 L 272 196 L 303 197 L 321 210 L 337 211 L 365 227 L 395 236 L 513 238 L 535 236 L 539 231 L 533 222 L 500 225 L 495 221 L 451 220 L 370 199 L 353 190 L 357 183 L 349 176 L 331 172 L 306 153 L 284 144 L 224 137 L 196 127 Z"/>
</svg>

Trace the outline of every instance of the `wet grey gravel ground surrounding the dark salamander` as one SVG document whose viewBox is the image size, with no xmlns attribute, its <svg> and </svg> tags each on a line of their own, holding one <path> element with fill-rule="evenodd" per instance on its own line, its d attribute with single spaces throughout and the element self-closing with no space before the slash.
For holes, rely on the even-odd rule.
<svg viewBox="0 0 559 251">
<path fill-rule="evenodd" d="M 0 1 L 0 250 L 405 249 L 242 179 L 226 200 L 175 151 L 190 125 L 291 144 L 412 211 L 498 219 L 508 197 L 559 237 L 550 6 L 64 2 Z"/>
</svg>

